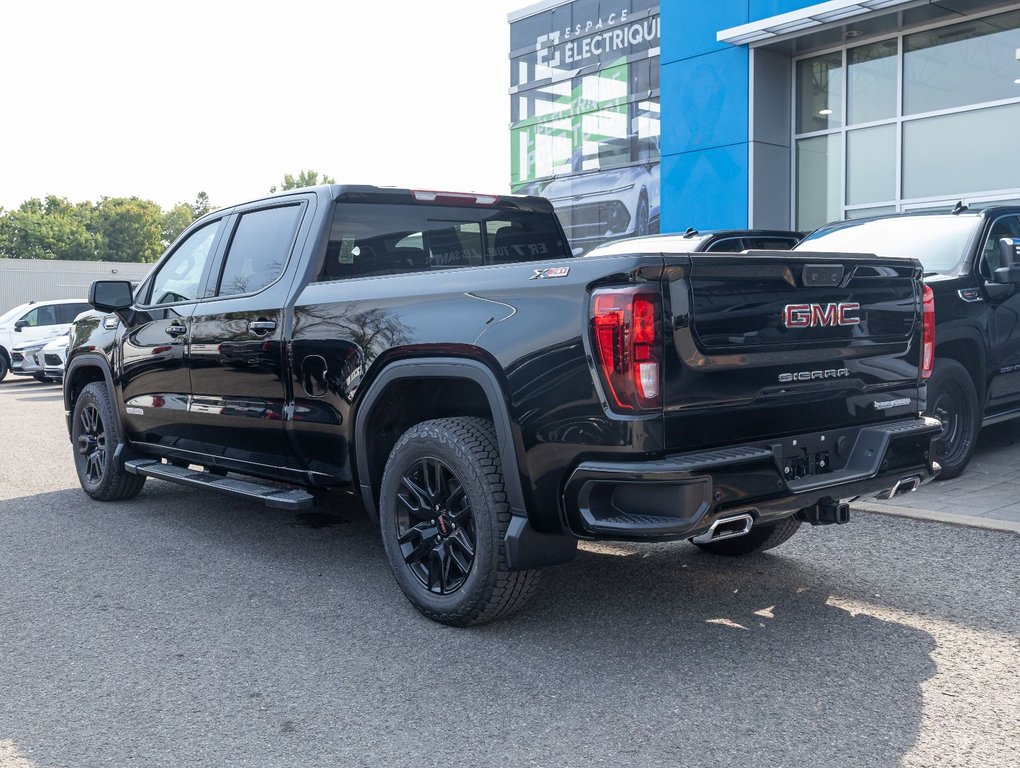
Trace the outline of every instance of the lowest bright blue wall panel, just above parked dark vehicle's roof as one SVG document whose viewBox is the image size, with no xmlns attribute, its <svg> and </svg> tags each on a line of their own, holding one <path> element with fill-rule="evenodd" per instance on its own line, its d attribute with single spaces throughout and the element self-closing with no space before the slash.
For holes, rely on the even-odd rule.
<svg viewBox="0 0 1020 768">
<path fill-rule="evenodd" d="M 748 225 L 748 145 L 662 158 L 662 232 Z"/>
</svg>

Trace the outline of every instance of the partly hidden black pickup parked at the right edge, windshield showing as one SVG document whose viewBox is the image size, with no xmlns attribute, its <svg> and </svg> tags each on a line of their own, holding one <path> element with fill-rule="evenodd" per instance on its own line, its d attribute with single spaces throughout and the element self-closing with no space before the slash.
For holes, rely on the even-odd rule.
<svg viewBox="0 0 1020 768">
<path fill-rule="evenodd" d="M 944 425 L 932 443 L 940 479 L 964 470 L 983 424 L 1020 416 L 1018 245 L 1020 206 L 960 204 L 952 212 L 827 224 L 797 247 L 916 258 L 924 266 L 936 307 L 927 413 Z"/>
</svg>

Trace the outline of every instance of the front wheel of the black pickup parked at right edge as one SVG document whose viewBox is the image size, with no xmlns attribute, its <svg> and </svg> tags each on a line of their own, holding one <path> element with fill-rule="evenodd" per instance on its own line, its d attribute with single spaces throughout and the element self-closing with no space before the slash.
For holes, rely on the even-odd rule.
<svg viewBox="0 0 1020 768">
<path fill-rule="evenodd" d="M 974 380 L 956 360 L 935 361 L 928 379 L 928 415 L 942 422 L 941 434 L 931 442 L 931 453 L 942 468 L 937 479 L 948 480 L 967 466 L 981 428 Z"/>
</svg>

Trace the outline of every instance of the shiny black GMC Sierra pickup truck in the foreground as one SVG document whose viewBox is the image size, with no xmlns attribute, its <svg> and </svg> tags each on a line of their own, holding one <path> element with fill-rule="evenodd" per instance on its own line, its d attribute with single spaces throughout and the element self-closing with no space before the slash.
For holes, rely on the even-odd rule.
<svg viewBox="0 0 1020 768">
<path fill-rule="evenodd" d="M 909 259 L 573 258 L 541 198 L 332 186 L 211 213 L 90 302 L 64 376 L 86 493 L 349 489 L 450 624 L 581 539 L 745 555 L 937 471 Z"/>
</svg>

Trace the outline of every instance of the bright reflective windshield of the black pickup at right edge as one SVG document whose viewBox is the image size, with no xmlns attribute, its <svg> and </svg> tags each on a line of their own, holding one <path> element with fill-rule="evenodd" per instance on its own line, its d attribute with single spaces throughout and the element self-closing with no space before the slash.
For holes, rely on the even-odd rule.
<svg viewBox="0 0 1020 768">
<path fill-rule="evenodd" d="M 980 219 L 961 216 L 897 216 L 837 224 L 802 240 L 796 251 L 873 253 L 918 259 L 925 271 L 954 273 Z"/>
</svg>

